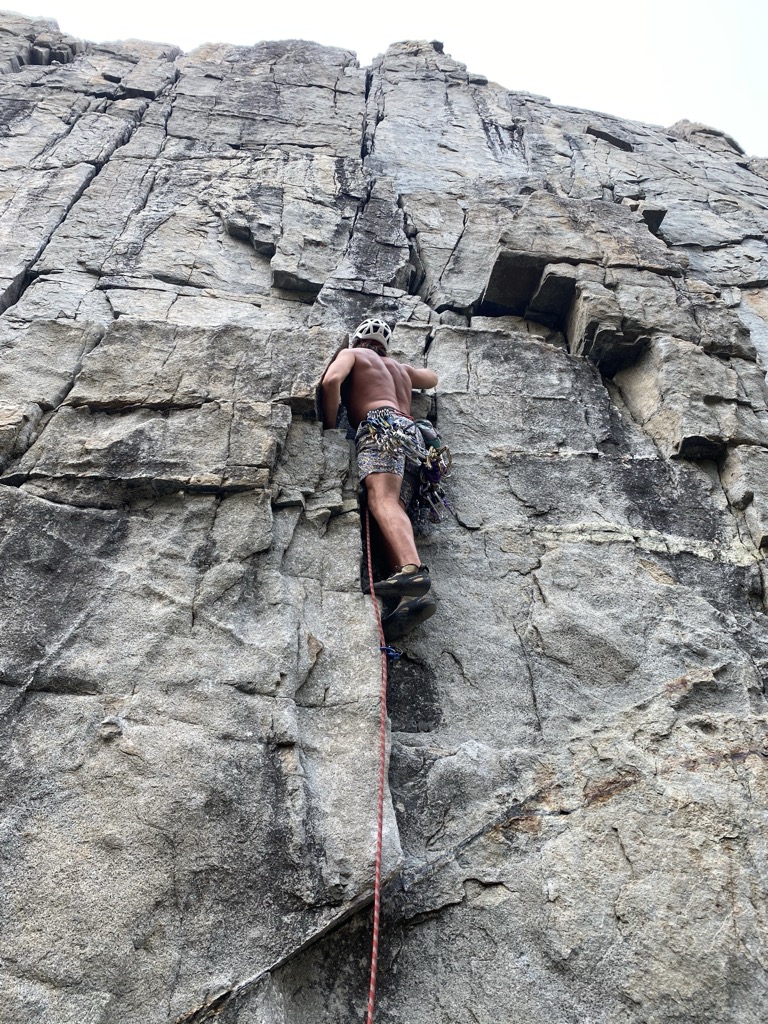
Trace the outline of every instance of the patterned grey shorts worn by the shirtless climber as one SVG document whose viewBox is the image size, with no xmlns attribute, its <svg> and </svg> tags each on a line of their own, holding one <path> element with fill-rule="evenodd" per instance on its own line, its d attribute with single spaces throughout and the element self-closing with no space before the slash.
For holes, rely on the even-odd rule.
<svg viewBox="0 0 768 1024">
<path fill-rule="evenodd" d="M 372 473 L 394 473 L 402 477 L 400 501 L 411 504 L 427 454 L 424 438 L 413 420 L 389 406 L 372 409 L 354 435 L 360 480 Z"/>
</svg>

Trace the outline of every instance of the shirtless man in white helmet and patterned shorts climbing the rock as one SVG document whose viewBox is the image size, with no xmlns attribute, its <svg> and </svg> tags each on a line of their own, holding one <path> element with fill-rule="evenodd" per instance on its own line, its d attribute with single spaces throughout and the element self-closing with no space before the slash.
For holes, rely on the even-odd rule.
<svg viewBox="0 0 768 1024">
<path fill-rule="evenodd" d="M 428 594 L 429 570 L 421 564 L 408 514 L 419 486 L 426 449 L 411 416 L 413 388 L 437 384 L 432 370 L 398 362 L 387 354 L 392 331 L 372 317 L 356 329 L 322 381 L 323 424 L 336 426 L 339 406 L 355 428 L 354 445 L 368 506 L 381 530 L 391 574 L 375 585 L 376 596 L 399 603 L 385 617 L 388 639 L 410 632 L 436 609 Z"/>
</svg>

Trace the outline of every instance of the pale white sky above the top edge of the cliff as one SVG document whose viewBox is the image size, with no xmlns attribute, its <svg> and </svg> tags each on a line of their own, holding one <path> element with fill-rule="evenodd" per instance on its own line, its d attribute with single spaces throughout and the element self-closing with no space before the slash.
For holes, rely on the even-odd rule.
<svg viewBox="0 0 768 1024">
<path fill-rule="evenodd" d="M 312 39 L 354 50 L 362 65 L 392 42 L 439 39 L 507 88 L 651 124 L 700 121 L 768 157 L 766 0 L 16 0 L 12 8 L 92 42 L 190 50 Z"/>
</svg>

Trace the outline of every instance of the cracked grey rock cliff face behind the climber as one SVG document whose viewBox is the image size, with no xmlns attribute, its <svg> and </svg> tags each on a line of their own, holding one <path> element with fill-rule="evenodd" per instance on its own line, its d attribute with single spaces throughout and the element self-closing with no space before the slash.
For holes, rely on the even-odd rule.
<svg viewBox="0 0 768 1024">
<path fill-rule="evenodd" d="M 314 402 L 369 311 L 456 510 L 377 1019 L 762 1022 L 765 161 L 438 43 L 3 15 L 0 70 L 2 1024 L 361 1020 L 378 640 Z"/>
</svg>

